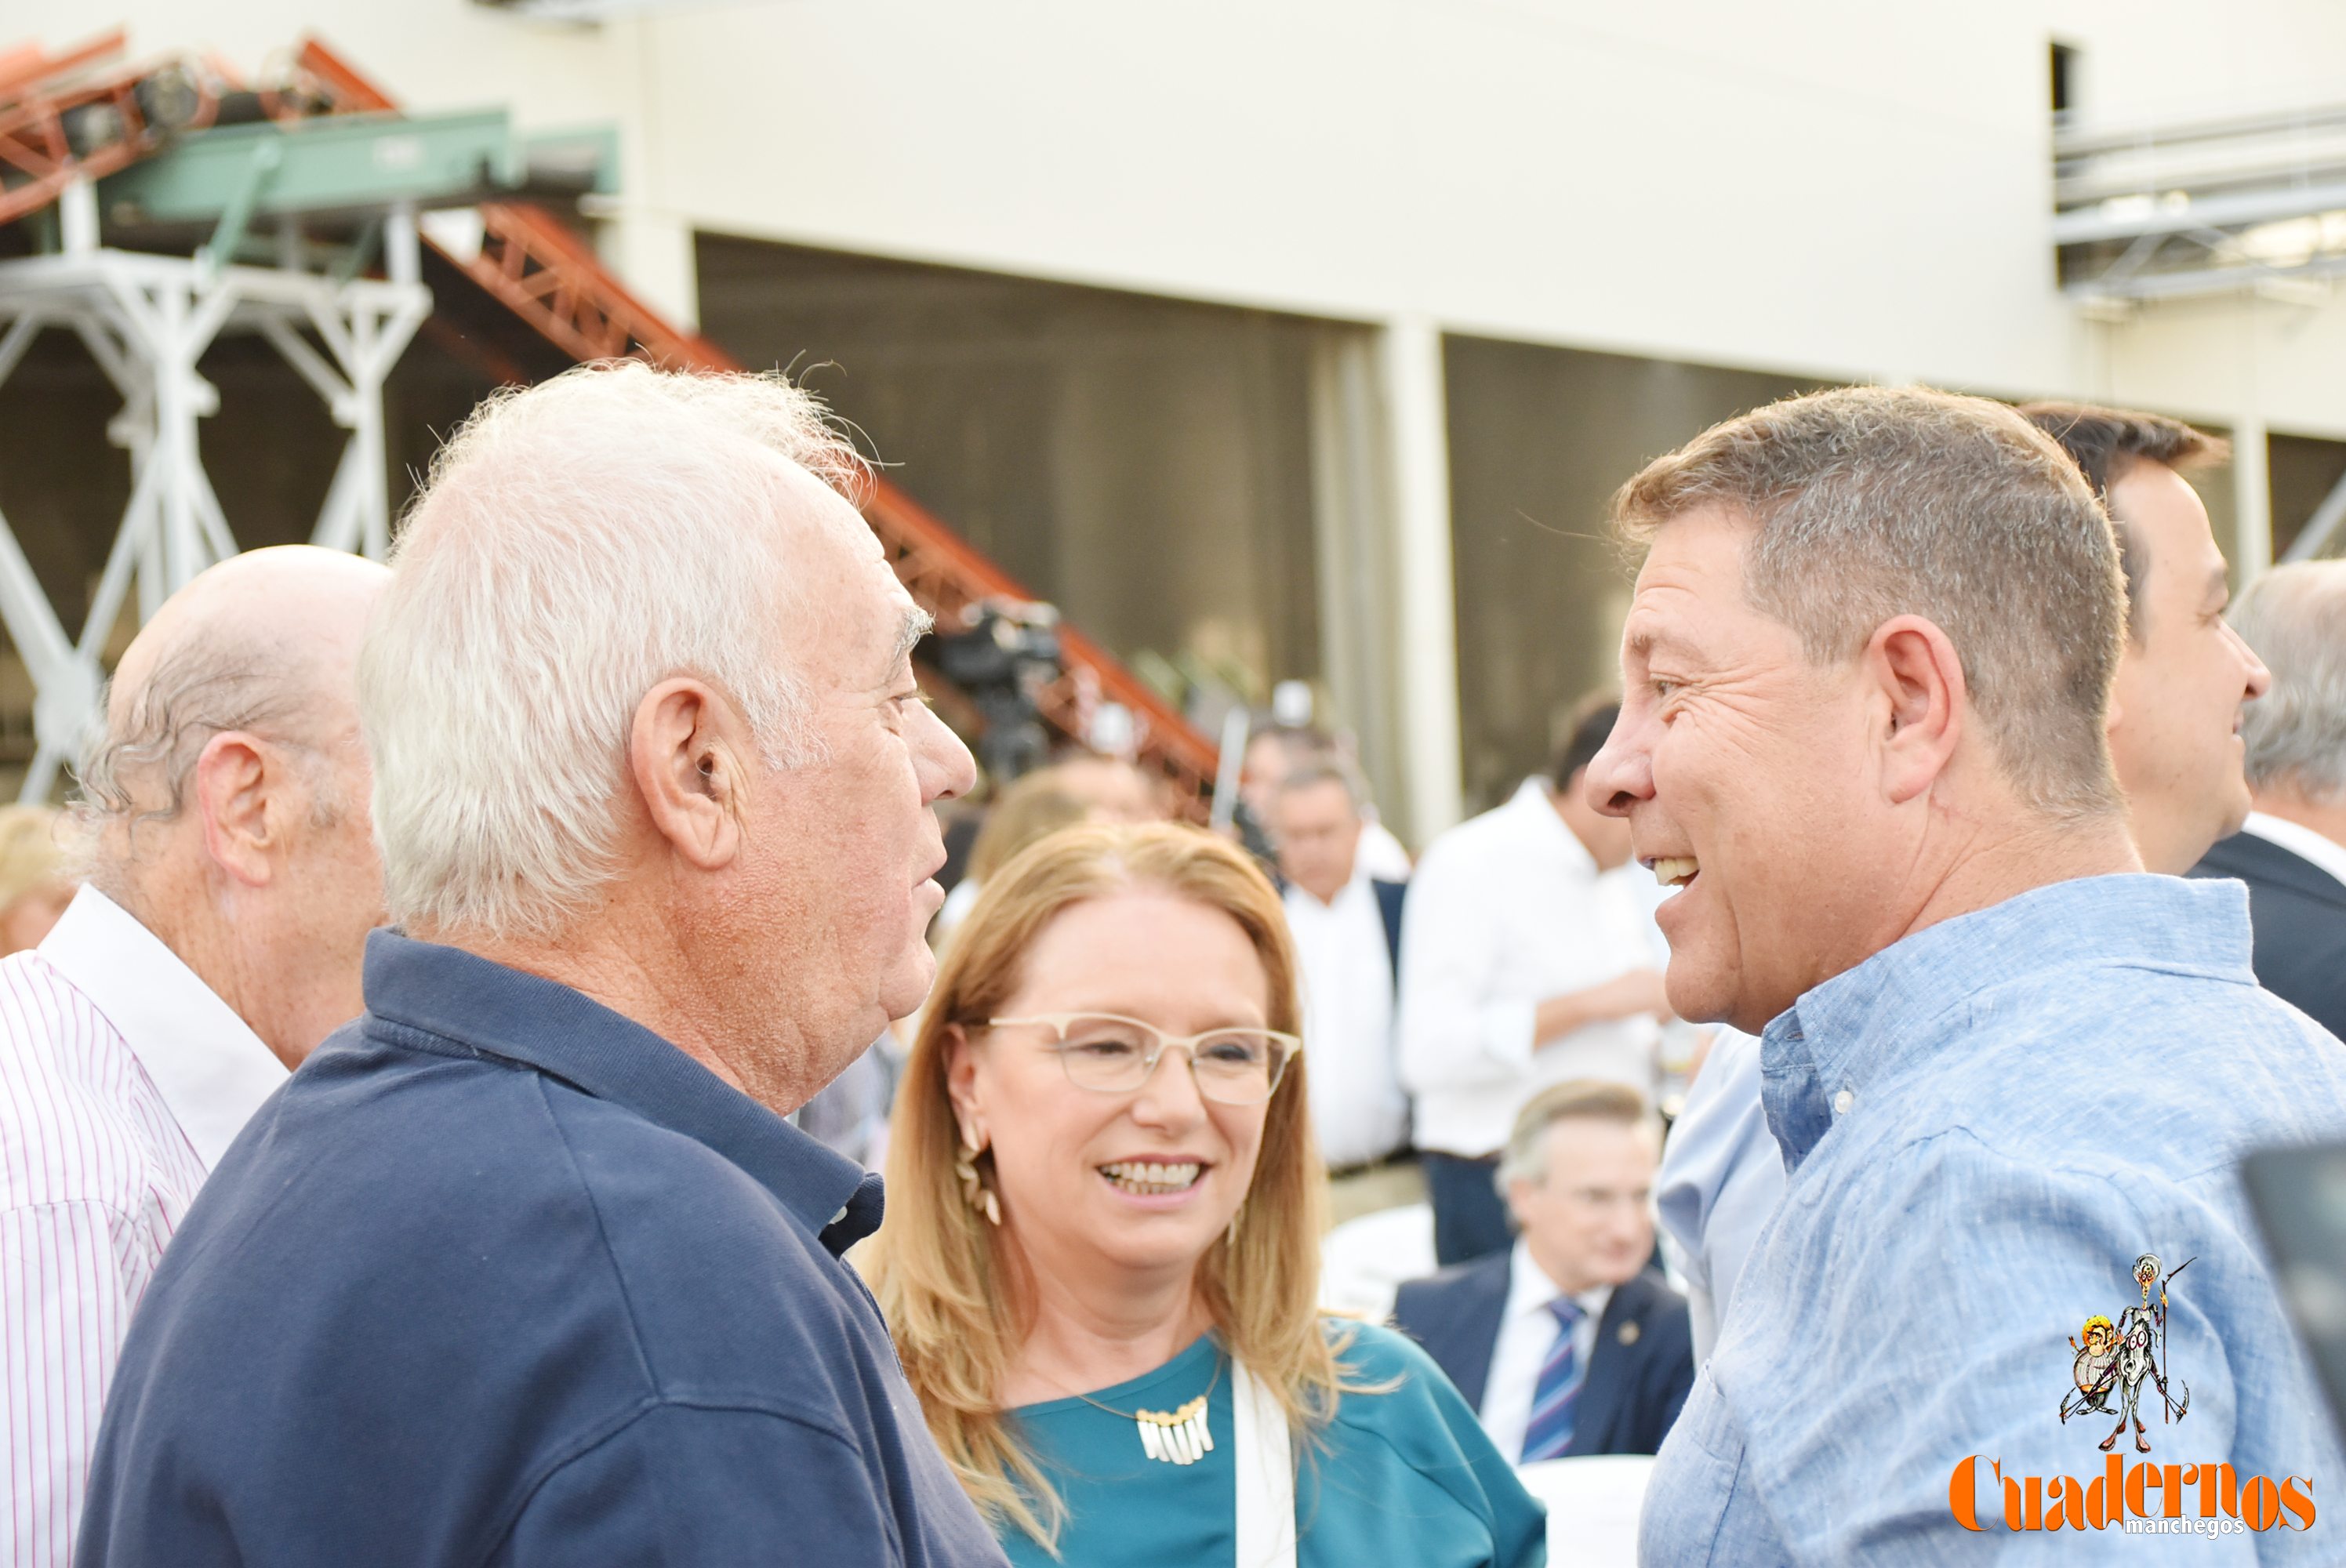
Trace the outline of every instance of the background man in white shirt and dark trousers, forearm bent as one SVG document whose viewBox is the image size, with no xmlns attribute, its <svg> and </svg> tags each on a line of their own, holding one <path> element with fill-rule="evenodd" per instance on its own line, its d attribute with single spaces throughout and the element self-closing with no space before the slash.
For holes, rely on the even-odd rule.
<svg viewBox="0 0 2346 1568">
<path fill-rule="evenodd" d="M 1401 1082 L 1417 1096 L 1443 1265 L 1508 1246 L 1499 1145 L 1534 1089 L 1567 1077 L 1649 1101 L 1656 1089 L 1668 1000 L 1623 880 L 1628 833 L 1581 800 L 1616 711 L 1586 702 L 1548 772 L 1436 838 L 1410 880 Z"/>
</svg>

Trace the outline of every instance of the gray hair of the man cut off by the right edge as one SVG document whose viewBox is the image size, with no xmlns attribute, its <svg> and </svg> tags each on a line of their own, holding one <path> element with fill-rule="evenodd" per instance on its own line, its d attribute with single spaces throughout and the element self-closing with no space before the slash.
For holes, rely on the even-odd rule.
<svg viewBox="0 0 2346 1568">
<path fill-rule="evenodd" d="M 2231 629 L 2273 671 L 2240 716 L 2247 782 L 2346 796 L 2346 561 L 2276 566 L 2240 594 Z"/>
</svg>

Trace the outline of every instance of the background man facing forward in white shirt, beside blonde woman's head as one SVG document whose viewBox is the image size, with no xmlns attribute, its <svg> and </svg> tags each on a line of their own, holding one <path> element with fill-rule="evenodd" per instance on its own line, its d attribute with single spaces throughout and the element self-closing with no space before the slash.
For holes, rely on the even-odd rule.
<svg viewBox="0 0 2346 1568">
<path fill-rule="evenodd" d="M 1394 951 L 1403 883 L 1361 857 L 1363 789 L 1337 756 L 1297 763 L 1269 800 L 1288 932 L 1304 991 L 1311 1129 L 1335 1221 L 1415 1202 L 1389 1162 L 1410 1143 L 1410 1096 L 1394 1063 Z M 1405 1181 L 1396 1190 L 1396 1176 Z"/>
</svg>

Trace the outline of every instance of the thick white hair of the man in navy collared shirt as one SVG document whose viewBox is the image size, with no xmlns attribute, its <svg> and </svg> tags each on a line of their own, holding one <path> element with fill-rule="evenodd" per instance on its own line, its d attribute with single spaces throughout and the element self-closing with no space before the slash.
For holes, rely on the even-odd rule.
<svg viewBox="0 0 2346 1568">
<path fill-rule="evenodd" d="M 490 397 L 432 462 L 359 653 L 394 922 L 556 937 L 617 871 L 636 704 L 723 688 L 784 768 L 809 692 L 779 657 L 805 509 L 868 479 L 781 376 L 594 364 Z"/>
</svg>

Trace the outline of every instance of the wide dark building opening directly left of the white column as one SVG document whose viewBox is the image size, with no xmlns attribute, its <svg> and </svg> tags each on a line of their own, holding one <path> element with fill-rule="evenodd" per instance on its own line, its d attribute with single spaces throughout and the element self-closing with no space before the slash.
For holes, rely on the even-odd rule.
<svg viewBox="0 0 2346 1568">
<path fill-rule="evenodd" d="M 699 298 L 1112 653 L 1243 674 L 1253 702 L 1321 676 L 1314 324 L 718 235 Z"/>
</svg>

